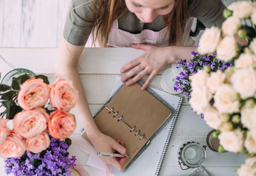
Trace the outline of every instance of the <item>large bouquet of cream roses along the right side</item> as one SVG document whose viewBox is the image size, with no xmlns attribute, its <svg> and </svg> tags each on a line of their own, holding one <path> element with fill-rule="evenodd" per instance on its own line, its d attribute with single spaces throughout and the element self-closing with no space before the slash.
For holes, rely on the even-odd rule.
<svg viewBox="0 0 256 176">
<path fill-rule="evenodd" d="M 225 71 L 200 70 L 191 80 L 189 103 L 205 122 L 216 129 L 219 151 L 244 152 L 245 164 L 238 175 L 256 175 L 256 4 L 238 1 L 223 12 L 221 29 L 206 29 L 199 54 L 212 54 L 224 62 L 234 62 Z M 239 45 L 241 38 L 247 43 Z"/>
</svg>

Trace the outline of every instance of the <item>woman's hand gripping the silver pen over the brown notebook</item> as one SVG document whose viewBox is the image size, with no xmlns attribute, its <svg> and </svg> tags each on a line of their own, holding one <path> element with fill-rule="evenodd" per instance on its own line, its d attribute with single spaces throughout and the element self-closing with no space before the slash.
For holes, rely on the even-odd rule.
<svg viewBox="0 0 256 176">
<path fill-rule="evenodd" d="M 124 161 L 126 159 L 126 149 L 124 147 L 124 142 L 116 142 L 110 136 L 104 135 L 99 132 L 97 137 L 89 137 L 90 141 L 94 145 L 95 149 L 99 152 L 108 152 L 114 153 L 118 152 L 122 154 L 123 158 L 115 158 L 115 157 L 100 157 L 102 162 L 106 165 L 113 165 L 118 170 L 122 170 L 122 166 L 124 165 Z M 121 144 L 121 145 L 120 145 Z"/>
</svg>

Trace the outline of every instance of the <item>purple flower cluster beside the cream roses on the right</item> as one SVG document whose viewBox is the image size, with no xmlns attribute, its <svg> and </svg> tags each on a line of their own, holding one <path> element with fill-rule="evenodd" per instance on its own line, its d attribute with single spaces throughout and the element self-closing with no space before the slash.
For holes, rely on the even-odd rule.
<svg viewBox="0 0 256 176">
<path fill-rule="evenodd" d="M 197 73 L 198 70 L 204 69 L 205 65 L 209 66 L 211 71 L 222 71 L 232 66 L 232 62 L 220 61 L 216 59 L 216 54 L 200 55 L 198 52 L 193 51 L 191 52 L 190 62 L 186 61 L 186 59 L 181 59 L 180 62 L 177 62 L 177 68 L 182 68 L 183 71 L 175 78 L 174 90 L 181 91 L 189 99 L 192 91 L 189 76 Z"/>
</svg>

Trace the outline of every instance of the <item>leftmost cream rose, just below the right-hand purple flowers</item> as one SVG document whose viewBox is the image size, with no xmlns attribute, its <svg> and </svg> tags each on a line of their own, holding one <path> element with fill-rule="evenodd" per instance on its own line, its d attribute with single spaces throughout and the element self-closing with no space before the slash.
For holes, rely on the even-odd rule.
<svg viewBox="0 0 256 176">
<path fill-rule="evenodd" d="M 209 106 L 211 98 L 212 94 L 205 86 L 198 87 L 191 92 L 189 103 L 196 114 L 202 114 Z"/>
</svg>

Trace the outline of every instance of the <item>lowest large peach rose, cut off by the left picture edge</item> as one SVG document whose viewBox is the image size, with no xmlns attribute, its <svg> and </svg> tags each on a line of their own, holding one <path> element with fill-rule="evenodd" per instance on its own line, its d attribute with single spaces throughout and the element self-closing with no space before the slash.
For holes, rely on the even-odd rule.
<svg viewBox="0 0 256 176">
<path fill-rule="evenodd" d="M 26 151 L 26 142 L 22 140 L 14 131 L 10 131 L 10 135 L 0 145 L 1 158 L 17 158 L 22 156 Z"/>
</svg>

